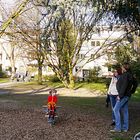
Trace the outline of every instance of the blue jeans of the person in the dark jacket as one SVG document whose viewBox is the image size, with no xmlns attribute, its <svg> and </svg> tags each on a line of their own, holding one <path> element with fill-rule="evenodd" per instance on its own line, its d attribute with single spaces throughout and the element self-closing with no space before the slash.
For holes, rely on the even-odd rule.
<svg viewBox="0 0 140 140">
<path fill-rule="evenodd" d="M 113 109 L 115 115 L 115 130 L 128 130 L 128 96 L 124 96 L 122 99 L 117 100 L 116 105 Z M 123 121 L 121 125 L 121 115 L 123 116 Z"/>
</svg>

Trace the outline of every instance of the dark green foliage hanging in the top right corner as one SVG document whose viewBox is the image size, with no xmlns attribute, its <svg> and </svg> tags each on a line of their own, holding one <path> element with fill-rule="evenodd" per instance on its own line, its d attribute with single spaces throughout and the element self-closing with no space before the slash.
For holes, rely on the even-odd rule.
<svg viewBox="0 0 140 140">
<path fill-rule="evenodd" d="M 112 13 L 119 24 L 129 25 L 130 30 L 139 30 L 140 27 L 140 1 L 139 0 L 111 0 L 102 1 L 107 13 Z M 109 17 L 112 22 L 112 18 Z"/>
</svg>

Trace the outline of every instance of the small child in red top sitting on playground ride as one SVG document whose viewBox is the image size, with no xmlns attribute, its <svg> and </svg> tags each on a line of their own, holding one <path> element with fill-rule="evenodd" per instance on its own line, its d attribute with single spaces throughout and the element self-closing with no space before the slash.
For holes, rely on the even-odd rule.
<svg viewBox="0 0 140 140">
<path fill-rule="evenodd" d="M 49 111 L 54 112 L 54 115 L 56 115 L 56 103 L 57 103 L 57 90 L 51 89 L 49 91 L 49 96 L 47 99 L 47 115 L 49 115 Z"/>
</svg>

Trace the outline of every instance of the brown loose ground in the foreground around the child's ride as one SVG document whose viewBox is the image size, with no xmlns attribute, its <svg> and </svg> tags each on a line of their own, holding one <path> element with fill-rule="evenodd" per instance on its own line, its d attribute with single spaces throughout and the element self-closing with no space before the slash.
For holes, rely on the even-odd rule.
<svg viewBox="0 0 140 140">
<path fill-rule="evenodd" d="M 101 116 L 65 108 L 50 126 L 41 109 L 0 104 L 0 140 L 109 140 L 109 123 Z"/>
</svg>

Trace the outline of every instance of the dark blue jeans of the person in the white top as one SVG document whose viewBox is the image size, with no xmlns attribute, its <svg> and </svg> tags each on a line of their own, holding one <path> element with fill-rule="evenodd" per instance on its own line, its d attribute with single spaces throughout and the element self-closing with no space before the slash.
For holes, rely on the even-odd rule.
<svg viewBox="0 0 140 140">
<path fill-rule="evenodd" d="M 109 95 L 109 97 L 110 97 L 110 103 L 111 103 L 111 108 L 112 108 L 112 120 L 113 120 L 113 122 L 115 122 L 115 115 L 113 112 L 113 108 L 117 101 L 117 95 Z"/>
</svg>

